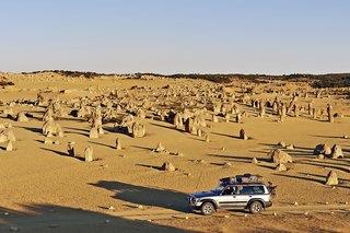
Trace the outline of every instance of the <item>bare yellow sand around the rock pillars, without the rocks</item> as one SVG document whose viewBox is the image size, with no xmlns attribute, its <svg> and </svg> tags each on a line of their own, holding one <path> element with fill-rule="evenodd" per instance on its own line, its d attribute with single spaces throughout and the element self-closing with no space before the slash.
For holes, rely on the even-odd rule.
<svg viewBox="0 0 350 233">
<path fill-rule="evenodd" d="M 98 96 L 108 90 L 133 85 L 213 85 L 203 81 L 166 79 L 72 81 L 48 74 L 11 74 L 10 79 L 15 85 L 0 90 L 2 102 L 36 100 L 38 91 L 44 89 L 73 90 L 69 94 L 60 94 L 62 100 L 69 100 Z M 0 144 L 0 230 L 9 231 L 13 226 L 12 230 L 19 228 L 23 232 L 346 232 L 350 226 L 350 206 L 343 206 L 350 202 L 350 139 L 342 136 L 350 135 L 349 100 L 334 95 L 315 102 L 319 106 L 332 103 L 336 109 L 345 113 L 345 117 L 337 118 L 334 124 L 307 116 L 288 117 L 280 124 L 277 123 L 277 116 L 255 117 L 249 107 L 238 105 L 252 112 L 252 115 L 245 117 L 243 124 L 208 120 L 212 125 L 209 130 L 210 142 L 151 118 L 142 119 L 147 128 L 144 138 L 114 132 L 109 123 L 103 126 L 105 135 L 90 139 L 90 124 L 68 117 L 58 120 L 65 131 L 65 137 L 57 139 L 59 144 L 43 143 L 45 137 L 40 117 L 44 107 L 14 105 L 14 113 L 26 110 L 33 117 L 28 123 L 3 118 L 12 125 L 16 141 L 14 151 L 4 151 L 5 144 Z M 0 110 L 4 108 L 0 106 Z M 241 128 L 252 140 L 237 139 Z M 122 142 L 124 149 L 120 151 L 114 148 L 117 137 Z M 81 156 L 83 150 L 92 145 L 97 160 L 85 163 L 68 156 L 69 141 L 75 142 Z M 284 173 L 275 171 L 275 165 L 266 162 L 267 152 L 276 148 L 279 141 L 295 145 L 295 150 L 287 150 L 294 163 Z M 159 142 L 171 152 L 184 153 L 184 156 L 152 152 Z M 341 145 L 346 158 L 315 159 L 313 149 L 322 142 Z M 223 147 L 225 150 L 222 150 Z M 257 158 L 259 164 L 252 164 L 253 158 Z M 203 160 L 205 163 L 198 163 L 197 160 Z M 159 171 L 158 167 L 165 161 L 172 162 L 177 171 Z M 225 162 L 233 165 L 224 167 Z M 324 185 L 330 170 L 336 171 L 341 180 L 335 188 Z M 221 213 L 203 218 L 188 212 L 188 193 L 210 189 L 219 178 L 243 173 L 259 174 L 265 180 L 277 185 L 273 207 L 285 209 L 276 209 L 273 212 L 278 213 L 277 217 L 244 217 L 229 212 L 232 214 L 229 219 L 221 218 Z M 331 209 L 336 212 L 331 214 L 329 208 L 320 208 L 324 212 L 308 215 L 303 214 L 305 210 L 301 210 L 301 213 L 288 212 L 294 202 L 311 207 L 307 210 L 310 212 L 313 211 L 312 207 L 317 209 L 319 206 L 334 205 Z M 140 205 L 142 209 L 138 208 Z M 337 212 L 340 210 L 342 212 Z M 174 214 L 179 218 L 174 218 Z M 188 214 L 189 219 L 183 219 L 184 214 Z"/>
</svg>

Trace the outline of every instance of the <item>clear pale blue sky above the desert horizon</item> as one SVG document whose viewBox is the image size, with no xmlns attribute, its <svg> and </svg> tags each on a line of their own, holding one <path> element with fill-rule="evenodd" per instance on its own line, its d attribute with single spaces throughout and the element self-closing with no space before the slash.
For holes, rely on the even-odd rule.
<svg viewBox="0 0 350 233">
<path fill-rule="evenodd" d="M 0 70 L 350 71 L 349 0 L 0 0 Z"/>
</svg>

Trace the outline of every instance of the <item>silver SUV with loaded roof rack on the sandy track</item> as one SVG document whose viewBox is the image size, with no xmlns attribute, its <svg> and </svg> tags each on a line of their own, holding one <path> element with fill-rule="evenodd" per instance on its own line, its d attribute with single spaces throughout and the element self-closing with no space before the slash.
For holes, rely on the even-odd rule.
<svg viewBox="0 0 350 233">
<path fill-rule="evenodd" d="M 210 191 L 194 193 L 188 196 L 192 210 L 210 215 L 218 209 L 245 209 L 259 213 L 272 206 L 273 186 L 267 186 L 259 176 L 244 174 L 220 179 L 220 185 Z"/>
</svg>

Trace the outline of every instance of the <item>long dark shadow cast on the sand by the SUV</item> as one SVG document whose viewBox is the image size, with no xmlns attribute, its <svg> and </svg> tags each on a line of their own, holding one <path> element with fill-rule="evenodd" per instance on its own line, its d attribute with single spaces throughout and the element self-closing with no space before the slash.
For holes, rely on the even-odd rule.
<svg viewBox="0 0 350 233">
<path fill-rule="evenodd" d="M 90 185 L 114 191 L 114 198 L 133 205 L 161 207 L 180 212 L 189 212 L 186 200 L 187 195 L 179 191 L 143 187 L 116 180 L 100 180 Z"/>
</svg>

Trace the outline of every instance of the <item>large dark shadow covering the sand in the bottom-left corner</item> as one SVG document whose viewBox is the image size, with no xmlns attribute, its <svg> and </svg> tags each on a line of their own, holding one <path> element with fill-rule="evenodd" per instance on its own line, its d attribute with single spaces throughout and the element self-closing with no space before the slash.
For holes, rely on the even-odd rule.
<svg viewBox="0 0 350 233">
<path fill-rule="evenodd" d="M 130 220 L 56 205 L 22 205 L 23 210 L 0 207 L 0 232 L 188 232 L 150 221 Z"/>
</svg>

